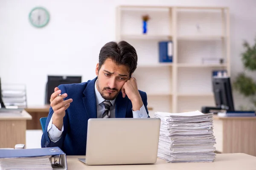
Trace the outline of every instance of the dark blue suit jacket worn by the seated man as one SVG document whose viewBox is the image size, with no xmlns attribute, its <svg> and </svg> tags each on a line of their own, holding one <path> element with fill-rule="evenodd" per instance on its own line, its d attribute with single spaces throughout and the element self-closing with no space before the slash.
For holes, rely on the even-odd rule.
<svg viewBox="0 0 256 170">
<path fill-rule="evenodd" d="M 41 139 L 41 147 L 60 147 L 67 155 L 85 155 L 87 139 L 87 122 L 90 118 L 97 118 L 96 96 L 94 84 L 97 77 L 79 84 L 59 85 L 61 94 L 67 93 L 64 99 L 73 99 L 63 118 L 64 131 L 58 142 L 49 139 L 47 127 L 52 117 L 53 110 L 49 109 L 45 130 Z M 143 104 L 148 113 L 147 95 L 139 91 Z M 132 104 L 127 96 L 122 97 L 122 92 L 116 97 L 116 118 L 132 118 Z M 149 116 L 148 116 L 149 117 Z"/>
</svg>

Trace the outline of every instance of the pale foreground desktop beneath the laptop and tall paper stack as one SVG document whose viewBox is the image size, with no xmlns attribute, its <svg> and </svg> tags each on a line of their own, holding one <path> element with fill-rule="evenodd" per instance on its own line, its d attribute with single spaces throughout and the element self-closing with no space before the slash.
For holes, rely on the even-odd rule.
<svg viewBox="0 0 256 170">
<path fill-rule="evenodd" d="M 85 156 L 67 156 L 68 170 L 256 170 L 256 157 L 245 153 L 217 154 L 214 162 L 168 163 L 157 159 L 155 164 L 88 166 L 78 160 Z"/>
</svg>

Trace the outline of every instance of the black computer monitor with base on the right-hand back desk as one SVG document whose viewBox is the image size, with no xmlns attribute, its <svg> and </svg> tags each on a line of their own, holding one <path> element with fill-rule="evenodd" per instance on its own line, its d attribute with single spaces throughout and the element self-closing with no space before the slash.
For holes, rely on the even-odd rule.
<svg viewBox="0 0 256 170">
<path fill-rule="evenodd" d="M 203 106 L 202 113 L 215 111 L 235 111 L 230 77 L 212 77 L 212 90 L 216 106 Z"/>
</svg>

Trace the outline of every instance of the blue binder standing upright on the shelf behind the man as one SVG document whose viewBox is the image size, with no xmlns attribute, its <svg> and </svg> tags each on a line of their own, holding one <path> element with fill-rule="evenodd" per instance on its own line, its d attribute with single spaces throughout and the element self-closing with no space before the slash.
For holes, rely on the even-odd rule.
<svg viewBox="0 0 256 170">
<path fill-rule="evenodd" d="M 172 41 L 158 42 L 159 62 L 172 62 Z"/>
</svg>

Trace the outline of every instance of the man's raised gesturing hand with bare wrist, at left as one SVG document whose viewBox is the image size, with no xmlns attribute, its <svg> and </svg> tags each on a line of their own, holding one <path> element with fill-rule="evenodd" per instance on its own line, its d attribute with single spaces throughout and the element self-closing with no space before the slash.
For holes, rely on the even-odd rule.
<svg viewBox="0 0 256 170">
<path fill-rule="evenodd" d="M 61 90 L 55 88 L 54 93 L 51 95 L 50 105 L 54 111 L 52 115 L 52 124 L 61 130 L 65 111 L 68 107 L 70 107 L 70 103 L 73 102 L 73 99 L 67 99 L 64 101 L 64 98 L 67 97 L 67 94 L 65 93 L 58 96 L 59 94 L 61 94 Z"/>
</svg>

